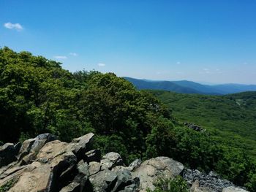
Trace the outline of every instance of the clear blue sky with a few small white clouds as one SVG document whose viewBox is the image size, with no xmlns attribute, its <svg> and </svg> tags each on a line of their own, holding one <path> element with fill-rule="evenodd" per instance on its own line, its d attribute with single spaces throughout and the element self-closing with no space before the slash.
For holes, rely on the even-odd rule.
<svg viewBox="0 0 256 192">
<path fill-rule="evenodd" d="M 256 0 L 0 0 L 0 46 L 120 77 L 256 84 Z"/>
</svg>

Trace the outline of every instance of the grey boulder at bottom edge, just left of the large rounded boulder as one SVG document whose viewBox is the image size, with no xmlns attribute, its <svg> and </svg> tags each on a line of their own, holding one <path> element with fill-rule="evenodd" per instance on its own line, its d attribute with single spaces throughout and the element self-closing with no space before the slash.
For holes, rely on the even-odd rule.
<svg viewBox="0 0 256 192">
<path fill-rule="evenodd" d="M 95 192 L 107 192 L 111 191 L 116 185 L 117 175 L 115 172 L 105 169 L 92 175 L 89 180 Z"/>
</svg>

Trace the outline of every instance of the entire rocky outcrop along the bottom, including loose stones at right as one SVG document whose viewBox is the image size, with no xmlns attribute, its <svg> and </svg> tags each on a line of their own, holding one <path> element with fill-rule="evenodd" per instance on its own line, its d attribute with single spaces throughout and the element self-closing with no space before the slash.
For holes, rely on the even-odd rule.
<svg viewBox="0 0 256 192">
<path fill-rule="evenodd" d="M 184 169 L 172 158 L 157 157 L 124 165 L 121 155 L 110 152 L 101 157 L 92 149 L 94 134 L 61 142 L 51 134 L 40 134 L 23 144 L 0 147 L 0 191 L 36 192 L 145 192 L 154 190 L 160 178 L 182 175 L 191 192 L 237 191 L 233 183 L 217 174 Z"/>
</svg>

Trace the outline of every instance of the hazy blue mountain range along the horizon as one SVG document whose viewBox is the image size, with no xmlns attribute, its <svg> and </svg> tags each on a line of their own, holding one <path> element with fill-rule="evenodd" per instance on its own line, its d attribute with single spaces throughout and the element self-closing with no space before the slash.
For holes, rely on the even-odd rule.
<svg viewBox="0 0 256 192">
<path fill-rule="evenodd" d="M 240 93 L 244 91 L 256 91 L 256 85 L 222 84 L 203 85 L 197 82 L 181 81 L 154 81 L 138 80 L 132 77 L 124 77 L 132 82 L 138 89 L 152 89 L 162 91 L 174 91 L 176 93 L 200 93 L 205 95 L 224 95 L 229 93 Z"/>
</svg>

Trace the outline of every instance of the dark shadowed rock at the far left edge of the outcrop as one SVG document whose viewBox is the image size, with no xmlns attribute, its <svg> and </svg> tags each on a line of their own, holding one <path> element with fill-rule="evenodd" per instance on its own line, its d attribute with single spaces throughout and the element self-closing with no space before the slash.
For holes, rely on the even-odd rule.
<svg viewBox="0 0 256 192">
<path fill-rule="evenodd" d="M 6 143 L 0 147 L 0 167 L 16 161 L 17 150 L 12 143 Z"/>
</svg>

